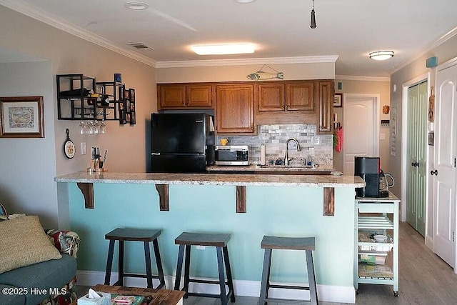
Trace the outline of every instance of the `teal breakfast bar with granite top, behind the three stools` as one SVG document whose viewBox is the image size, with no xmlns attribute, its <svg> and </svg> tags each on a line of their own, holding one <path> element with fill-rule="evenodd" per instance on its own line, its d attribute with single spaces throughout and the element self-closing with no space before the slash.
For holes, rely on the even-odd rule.
<svg viewBox="0 0 457 305">
<path fill-rule="evenodd" d="M 176 236 L 183 231 L 231 234 L 228 248 L 238 296 L 259 295 L 264 235 L 315 236 L 318 299 L 356 301 L 354 196 L 355 188 L 365 185 L 358 176 L 78 172 L 54 180 L 64 189 L 59 206 L 68 204 L 71 230 L 84 241 L 78 253 L 79 284 L 103 283 L 108 251 L 104 235 L 117 227 L 162 230 L 159 246 L 169 289 L 176 272 Z M 145 273 L 143 249 L 136 244 L 126 245 L 125 266 Z M 191 260 L 191 276 L 218 277 L 211 247 L 192 251 Z M 146 280 L 129 280 L 128 286 L 146 286 Z M 271 281 L 306 283 L 304 254 L 275 252 Z M 195 284 L 190 290 L 217 293 L 219 288 Z M 305 299 L 306 294 L 270 292 L 271 297 L 286 299 Z"/>
</svg>

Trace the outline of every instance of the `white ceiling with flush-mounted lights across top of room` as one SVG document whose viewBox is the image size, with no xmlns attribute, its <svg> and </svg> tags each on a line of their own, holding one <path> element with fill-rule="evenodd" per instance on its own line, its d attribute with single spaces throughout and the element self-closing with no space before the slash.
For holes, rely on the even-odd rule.
<svg viewBox="0 0 457 305">
<path fill-rule="evenodd" d="M 41 21 L 73 29 L 153 66 L 249 61 L 277 64 L 338 56 L 336 74 L 387 77 L 457 33 L 456 0 L 139 0 L 149 9 L 126 9 L 128 0 L 0 0 Z M 72 30 L 72 31 L 73 31 Z M 127 43 L 154 49 L 139 51 Z M 193 44 L 251 42 L 254 54 L 199 56 Z M 371 51 L 391 50 L 388 61 Z M 311 57 L 310 57 L 311 56 Z M 254 60 L 255 59 L 255 60 Z"/>
</svg>

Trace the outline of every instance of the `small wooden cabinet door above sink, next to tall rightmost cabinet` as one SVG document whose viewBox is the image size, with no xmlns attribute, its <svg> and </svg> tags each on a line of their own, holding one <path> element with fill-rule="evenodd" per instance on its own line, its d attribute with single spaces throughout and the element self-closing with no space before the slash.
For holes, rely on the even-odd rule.
<svg viewBox="0 0 457 305">
<path fill-rule="evenodd" d="M 286 84 L 287 110 L 314 110 L 314 82 Z"/>
</svg>

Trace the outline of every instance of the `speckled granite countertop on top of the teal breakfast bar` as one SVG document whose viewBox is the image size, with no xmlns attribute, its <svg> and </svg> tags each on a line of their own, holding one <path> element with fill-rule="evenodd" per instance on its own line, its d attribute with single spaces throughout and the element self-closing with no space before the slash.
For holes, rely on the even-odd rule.
<svg viewBox="0 0 457 305">
<path fill-rule="evenodd" d="M 363 187 L 359 176 L 271 175 L 271 174 L 161 174 L 161 173 L 88 173 L 86 171 L 56 176 L 56 182 L 115 184 L 198 184 L 235 186 L 308 186 Z"/>
</svg>

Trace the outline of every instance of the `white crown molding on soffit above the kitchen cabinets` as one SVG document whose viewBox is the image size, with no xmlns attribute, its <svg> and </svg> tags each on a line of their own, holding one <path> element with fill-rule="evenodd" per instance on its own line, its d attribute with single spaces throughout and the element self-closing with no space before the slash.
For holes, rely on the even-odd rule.
<svg viewBox="0 0 457 305">
<path fill-rule="evenodd" d="M 330 56 L 298 56 L 268 57 L 260 59 L 215 59 L 199 61 L 158 61 L 156 68 L 184 68 L 196 66 L 241 66 L 246 64 L 312 64 L 335 63 L 338 55 Z"/>
</svg>

